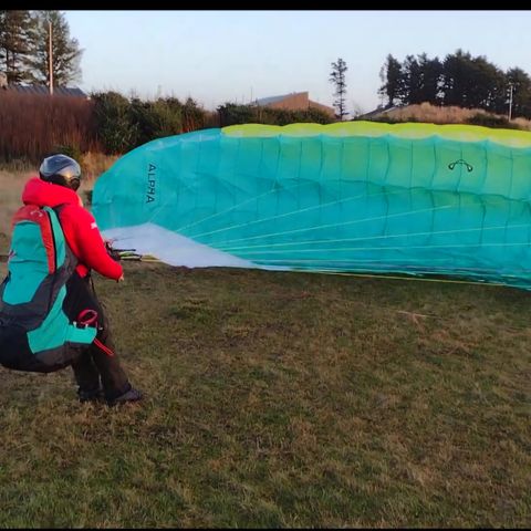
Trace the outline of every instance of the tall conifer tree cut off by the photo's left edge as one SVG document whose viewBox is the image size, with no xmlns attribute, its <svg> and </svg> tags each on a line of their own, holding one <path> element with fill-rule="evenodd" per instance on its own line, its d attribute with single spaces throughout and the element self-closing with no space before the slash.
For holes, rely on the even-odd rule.
<svg viewBox="0 0 531 531">
<path fill-rule="evenodd" d="M 34 21 L 30 11 L 0 11 L 0 61 L 8 83 L 31 81 Z M 1 64 L 1 63 L 0 63 Z"/>
</svg>

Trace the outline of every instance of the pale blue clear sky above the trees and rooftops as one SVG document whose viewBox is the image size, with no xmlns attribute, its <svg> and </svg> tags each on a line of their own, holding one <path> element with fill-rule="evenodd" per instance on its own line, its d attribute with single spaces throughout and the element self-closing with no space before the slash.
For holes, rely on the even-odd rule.
<svg viewBox="0 0 531 531">
<path fill-rule="evenodd" d="M 333 105 L 332 63 L 345 61 L 348 112 L 382 103 L 379 72 L 391 53 L 403 62 L 458 49 L 499 69 L 531 75 L 531 10 L 368 11 L 211 10 L 63 11 L 83 50 L 86 92 L 142 98 L 190 96 L 218 105 L 309 92 Z"/>
</svg>

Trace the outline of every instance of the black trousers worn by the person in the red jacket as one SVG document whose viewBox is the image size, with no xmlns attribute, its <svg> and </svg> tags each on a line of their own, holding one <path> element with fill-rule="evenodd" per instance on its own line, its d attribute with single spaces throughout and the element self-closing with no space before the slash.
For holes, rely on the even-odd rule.
<svg viewBox="0 0 531 531">
<path fill-rule="evenodd" d="M 95 341 L 72 362 L 79 391 L 92 392 L 102 387 L 110 400 L 126 393 L 131 384 L 115 352 L 108 320 L 90 275 L 81 278 L 74 273 L 66 282 L 63 310 L 71 321 L 95 320 L 98 329 Z"/>
</svg>

